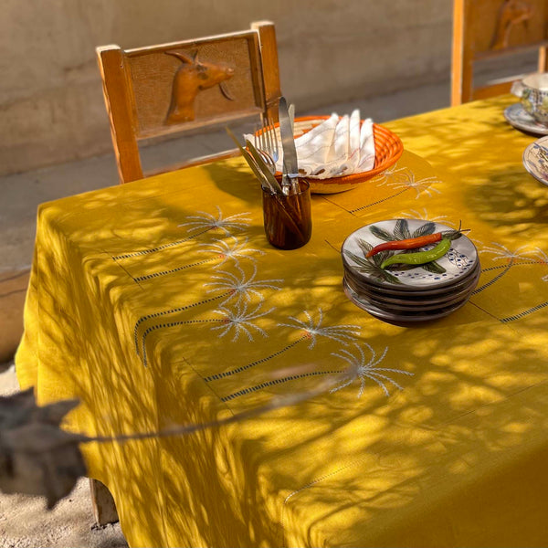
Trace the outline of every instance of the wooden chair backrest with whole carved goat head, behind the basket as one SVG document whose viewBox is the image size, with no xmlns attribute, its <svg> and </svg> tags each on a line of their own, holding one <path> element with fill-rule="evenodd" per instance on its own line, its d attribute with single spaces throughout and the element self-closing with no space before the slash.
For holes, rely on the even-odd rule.
<svg viewBox="0 0 548 548">
<path fill-rule="evenodd" d="M 138 145 L 144 139 L 254 115 L 278 120 L 278 49 L 269 21 L 252 23 L 244 32 L 96 51 L 121 183 L 144 176 Z"/>
</svg>

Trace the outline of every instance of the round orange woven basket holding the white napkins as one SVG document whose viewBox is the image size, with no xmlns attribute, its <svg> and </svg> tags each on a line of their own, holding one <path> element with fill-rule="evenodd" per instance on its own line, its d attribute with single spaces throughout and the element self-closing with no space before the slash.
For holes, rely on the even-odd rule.
<svg viewBox="0 0 548 548">
<path fill-rule="evenodd" d="M 328 120 L 329 116 L 301 116 L 295 119 L 294 133 L 295 137 L 300 137 L 322 121 Z M 279 124 L 276 124 L 278 127 Z M 311 185 L 313 194 L 334 194 L 344 192 L 354 188 L 357 184 L 364 183 L 378 174 L 382 174 L 391 165 L 394 165 L 404 152 L 404 145 L 400 138 L 390 130 L 379 125 L 373 124 L 374 137 L 374 167 L 368 172 L 359 174 L 343 175 L 342 177 L 332 177 L 330 179 L 315 179 L 306 177 Z M 281 179 L 281 174 L 276 174 Z"/>
</svg>

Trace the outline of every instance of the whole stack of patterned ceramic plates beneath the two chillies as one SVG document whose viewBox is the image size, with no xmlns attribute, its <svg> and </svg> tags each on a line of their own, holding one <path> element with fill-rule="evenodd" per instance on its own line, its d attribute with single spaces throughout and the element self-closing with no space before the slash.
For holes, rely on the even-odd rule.
<svg viewBox="0 0 548 548">
<path fill-rule="evenodd" d="M 452 240 L 448 253 L 434 265 L 395 265 L 383 270 L 380 256 L 365 258 L 369 248 L 386 239 L 450 230 L 454 229 L 422 219 L 391 219 L 356 230 L 342 244 L 344 292 L 354 304 L 384 321 L 429 321 L 456 311 L 469 300 L 481 271 L 478 251 L 468 237 Z"/>
</svg>

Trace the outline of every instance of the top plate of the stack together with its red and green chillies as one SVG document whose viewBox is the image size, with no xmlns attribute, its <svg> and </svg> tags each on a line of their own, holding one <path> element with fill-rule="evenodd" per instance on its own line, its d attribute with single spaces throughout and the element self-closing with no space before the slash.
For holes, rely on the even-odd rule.
<svg viewBox="0 0 548 548">
<path fill-rule="evenodd" d="M 402 248 L 403 240 L 423 245 Z M 437 248 L 444 240 L 450 246 L 446 241 L 439 255 Z M 377 247 L 382 250 L 368 256 Z M 401 262 L 395 262 L 396 254 L 401 254 Z M 404 293 L 448 288 L 471 276 L 479 265 L 478 251 L 469 237 L 424 219 L 389 219 L 361 227 L 344 240 L 341 255 L 344 269 L 353 278 L 372 288 Z"/>
</svg>

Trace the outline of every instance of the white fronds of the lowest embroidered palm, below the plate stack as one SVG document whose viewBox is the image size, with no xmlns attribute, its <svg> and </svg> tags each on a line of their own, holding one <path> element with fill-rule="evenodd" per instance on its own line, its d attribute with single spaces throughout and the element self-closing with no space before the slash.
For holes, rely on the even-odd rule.
<svg viewBox="0 0 548 548">
<path fill-rule="evenodd" d="M 377 364 L 380 364 L 384 359 L 386 352 L 388 351 L 388 347 L 385 348 L 385 351 L 381 355 L 380 358 L 376 358 L 376 353 L 374 352 L 373 348 L 370 344 L 365 342 L 365 346 L 369 349 L 371 353 L 370 360 L 365 363 L 365 353 L 362 348 L 360 348 L 357 344 L 354 344 L 357 353 L 351 353 L 348 350 L 342 349 L 338 353 L 332 353 L 332 356 L 336 356 L 337 358 L 341 358 L 348 364 L 347 372 L 348 372 L 348 378 L 342 382 L 341 385 L 335 386 L 330 390 L 330 392 L 337 392 L 337 390 L 341 390 L 342 388 L 352 385 L 354 381 L 360 380 L 360 390 L 358 391 L 357 397 L 362 397 L 364 394 L 364 387 L 365 387 L 365 381 L 366 379 L 370 379 L 374 381 L 377 385 L 379 385 L 382 389 L 385 395 L 390 395 L 388 392 L 388 388 L 386 388 L 385 383 L 391 383 L 392 385 L 395 385 L 395 387 L 398 390 L 403 390 L 403 387 L 401 385 L 398 385 L 394 379 L 391 379 L 389 376 L 387 376 L 385 373 L 397 373 L 397 374 L 406 374 L 409 376 L 412 376 L 413 373 L 410 373 L 408 371 L 404 371 L 402 369 L 394 369 L 389 367 L 376 367 Z M 380 373 L 383 372 L 383 373 Z"/>
</svg>

